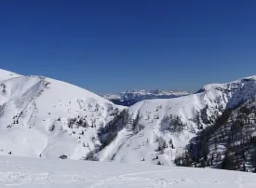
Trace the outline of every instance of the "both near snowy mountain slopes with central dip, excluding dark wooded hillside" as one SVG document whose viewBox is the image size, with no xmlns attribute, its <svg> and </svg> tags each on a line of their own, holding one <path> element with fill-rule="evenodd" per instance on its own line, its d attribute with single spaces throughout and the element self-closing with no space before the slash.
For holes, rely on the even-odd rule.
<svg viewBox="0 0 256 188">
<path fill-rule="evenodd" d="M 0 78 L 0 155 L 173 165 L 223 112 L 256 95 L 251 76 L 124 107 L 44 76 Z"/>
</svg>

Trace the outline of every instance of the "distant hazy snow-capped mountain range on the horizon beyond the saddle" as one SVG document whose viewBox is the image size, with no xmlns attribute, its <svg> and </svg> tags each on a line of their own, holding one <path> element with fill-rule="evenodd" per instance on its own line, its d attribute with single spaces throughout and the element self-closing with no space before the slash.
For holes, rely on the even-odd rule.
<svg viewBox="0 0 256 188">
<path fill-rule="evenodd" d="M 181 90 L 126 90 L 115 94 L 104 94 L 103 98 L 113 101 L 115 104 L 131 106 L 138 101 L 153 99 L 171 99 L 188 95 L 189 93 Z"/>
</svg>

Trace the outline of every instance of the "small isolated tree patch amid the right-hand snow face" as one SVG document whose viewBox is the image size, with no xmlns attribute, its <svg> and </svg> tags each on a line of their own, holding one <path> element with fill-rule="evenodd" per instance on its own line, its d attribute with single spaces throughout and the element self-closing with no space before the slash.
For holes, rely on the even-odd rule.
<svg viewBox="0 0 256 188">
<path fill-rule="evenodd" d="M 181 133 L 186 127 L 186 124 L 182 123 L 182 119 L 179 115 L 165 115 L 161 120 L 161 127 L 171 132 Z"/>
</svg>

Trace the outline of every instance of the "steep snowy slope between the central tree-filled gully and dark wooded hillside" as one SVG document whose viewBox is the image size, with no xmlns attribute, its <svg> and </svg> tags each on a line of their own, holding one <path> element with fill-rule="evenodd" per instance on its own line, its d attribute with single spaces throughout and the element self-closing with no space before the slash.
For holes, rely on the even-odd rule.
<svg viewBox="0 0 256 188">
<path fill-rule="evenodd" d="M 103 161 L 116 160 L 172 165 L 196 133 L 211 125 L 226 108 L 250 100 L 256 94 L 256 77 L 252 76 L 227 84 L 211 84 L 193 95 L 169 100 L 140 101 L 129 108 L 132 118 L 140 114 L 144 127 L 139 133 L 129 128 L 119 132 L 116 140 L 101 151 Z M 173 128 L 167 116 L 180 119 L 182 129 Z"/>
</svg>

